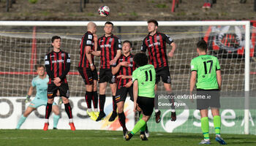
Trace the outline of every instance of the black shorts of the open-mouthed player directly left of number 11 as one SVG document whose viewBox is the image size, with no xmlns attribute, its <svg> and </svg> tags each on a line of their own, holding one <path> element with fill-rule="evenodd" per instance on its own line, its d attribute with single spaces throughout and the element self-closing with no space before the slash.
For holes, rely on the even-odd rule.
<svg viewBox="0 0 256 146">
<path fill-rule="evenodd" d="M 133 86 L 129 88 L 116 88 L 116 103 L 120 101 L 125 101 L 125 99 L 127 99 L 127 93 L 129 93 L 129 97 L 131 101 L 133 101 Z"/>
</svg>

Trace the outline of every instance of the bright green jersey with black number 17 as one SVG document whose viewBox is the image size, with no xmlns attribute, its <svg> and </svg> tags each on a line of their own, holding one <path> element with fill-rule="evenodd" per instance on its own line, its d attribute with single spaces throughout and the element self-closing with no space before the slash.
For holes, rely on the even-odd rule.
<svg viewBox="0 0 256 146">
<path fill-rule="evenodd" d="M 191 61 L 191 71 L 197 72 L 197 89 L 218 89 L 216 71 L 220 70 L 218 58 L 212 55 L 199 55 Z"/>
</svg>

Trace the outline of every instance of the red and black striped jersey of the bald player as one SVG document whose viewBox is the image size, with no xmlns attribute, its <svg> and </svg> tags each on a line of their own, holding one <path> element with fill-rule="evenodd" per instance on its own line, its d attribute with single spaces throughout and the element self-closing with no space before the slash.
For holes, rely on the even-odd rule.
<svg viewBox="0 0 256 146">
<path fill-rule="evenodd" d="M 78 67 L 90 68 L 90 63 L 86 58 L 86 46 L 90 46 L 91 50 L 94 50 L 94 35 L 90 31 L 87 31 L 83 35 L 80 42 L 80 61 Z M 91 55 L 92 62 L 94 64 L 94 55 Z"/>
</svg>

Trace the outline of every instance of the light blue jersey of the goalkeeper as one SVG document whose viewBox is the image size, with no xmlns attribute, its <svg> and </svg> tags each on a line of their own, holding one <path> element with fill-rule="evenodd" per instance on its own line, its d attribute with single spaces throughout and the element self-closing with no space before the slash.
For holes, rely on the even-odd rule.
<svg viewBox="0 0 256 146">
<path fill-rule="evenodd" d="M 46 75 L 45 79 L 41 79 L 39 76 L 37 76 L 37 77 L 34 77 L 34 79 L 32 80 L 31 82 L 32 86 L 37 88 L 37 94 L 36 94 L 37 99 L 48 100 L 47 98 L 48 82 L 49 82 L 48 75 Z"/>
</svg>

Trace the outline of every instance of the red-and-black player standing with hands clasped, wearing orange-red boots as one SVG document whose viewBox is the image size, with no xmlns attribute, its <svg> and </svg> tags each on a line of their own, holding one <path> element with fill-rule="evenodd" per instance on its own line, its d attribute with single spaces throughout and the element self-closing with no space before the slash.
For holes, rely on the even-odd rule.
<svg viewBox="0 0 256 146">
<path fill-rule="evenodd" d="M 49 76 L 47 89 L 48 102 L 45 109 L 45 126 L 44 131 L 48 130 L 49 117 L 53 105 L 53 99 L 59 91 L 59 96 L 64 103 L 65 110 L 69 117 L 69 126 L 75 131 L 72 120 L 72 109 L 69 104 L 69 85 L 67 84 L 67 73 L 70 69 L 70 56 L 61 50 L 61 37 L 53 36 L 51 39 L 53 51 L 45 55 L 45 68 Z"/>
</svg>

